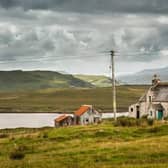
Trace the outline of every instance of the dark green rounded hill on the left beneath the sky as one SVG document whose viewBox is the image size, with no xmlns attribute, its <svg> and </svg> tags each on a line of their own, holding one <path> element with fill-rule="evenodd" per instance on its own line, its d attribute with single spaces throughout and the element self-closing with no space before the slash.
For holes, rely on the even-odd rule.
<svg viewBox="0 0 168 168">
<path fill-rule="evenodd" d="M 69 74 L 52 71 L 0 71 L 0 90 L 34 90 L 45 88 L 93 87 Z"/>
</svg>

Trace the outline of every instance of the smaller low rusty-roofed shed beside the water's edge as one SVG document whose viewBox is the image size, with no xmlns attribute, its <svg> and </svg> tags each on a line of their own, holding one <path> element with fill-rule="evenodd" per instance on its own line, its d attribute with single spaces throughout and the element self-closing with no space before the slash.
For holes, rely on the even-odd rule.
<svg viewBox="0 0 168 168">
<path fill-rule="evenodd" d="M 55 127 L 65 127 L 73 125 L 73 117 L 70 115 L 61 115 L 54 120 Z"/>
</svg>

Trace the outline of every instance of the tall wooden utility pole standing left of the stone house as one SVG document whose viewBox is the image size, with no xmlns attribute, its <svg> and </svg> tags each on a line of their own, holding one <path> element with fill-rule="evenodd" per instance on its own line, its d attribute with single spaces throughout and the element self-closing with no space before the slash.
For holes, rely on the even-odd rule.
<svg viewBox="0 0 168 168">
<path fill-rule="evenodd" d="M 115 51 L 110 51 L 111 53 L 111 71 L 112 71 L 112 87 L 113 87 L 113 113 L 114 113 L 114 120 L 117 120 L 117 103 L 116 103 L 116 81 L 115 81 L 115 67 L 114 67 L 114 55 Z"/>
</svg>

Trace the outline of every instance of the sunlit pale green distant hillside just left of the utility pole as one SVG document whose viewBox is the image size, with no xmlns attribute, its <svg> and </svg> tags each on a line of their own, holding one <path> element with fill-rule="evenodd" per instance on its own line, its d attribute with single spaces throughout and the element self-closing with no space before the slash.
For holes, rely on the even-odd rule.
<svg viewBox="0 0 168 168">
<path fill-rule="evenodd" d="M 110 87 L 111 79 L 107 76 L 99 75 L 75 75 L 76 78 L 79 78 L 85 82 L 89 82 L 96 87 Z"/>
</svg>

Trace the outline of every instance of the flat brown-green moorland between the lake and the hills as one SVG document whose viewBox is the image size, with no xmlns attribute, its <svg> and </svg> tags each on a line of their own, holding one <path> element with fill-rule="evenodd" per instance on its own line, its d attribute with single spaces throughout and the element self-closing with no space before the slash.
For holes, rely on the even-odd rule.
<svg viewBox="0 0 168 168">
<path fill-rule="evenodd" d="M 118 111 L 127 111 L 148 86 L 118 86 Z M 73 112 L 82 104 L 92 104 L 102 112 L 112 111 L 112 89 L 46 89 L 1 92 L 0 112 Z"/>
</svg>

